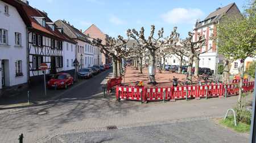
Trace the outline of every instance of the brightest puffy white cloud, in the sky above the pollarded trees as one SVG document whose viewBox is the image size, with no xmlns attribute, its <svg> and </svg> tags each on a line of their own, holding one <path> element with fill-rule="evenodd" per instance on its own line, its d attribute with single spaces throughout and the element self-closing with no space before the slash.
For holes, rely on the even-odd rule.
<svg viewBox="0 0 256 143">
<path fill-rule="evenodd" d="M 189 23 L 193 24 L 196 19 L 199 19 L 204 15 L 204 12 L 198 8 L 174 8 L 165 14 L 161 15 L 161 18 L 170 24 Z"/>
</svg>

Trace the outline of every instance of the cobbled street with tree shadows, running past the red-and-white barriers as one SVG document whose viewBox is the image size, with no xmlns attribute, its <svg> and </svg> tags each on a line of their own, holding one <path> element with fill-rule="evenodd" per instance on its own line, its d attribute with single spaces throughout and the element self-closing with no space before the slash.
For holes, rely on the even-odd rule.
<svg viewBox="0 0 256 143">
<path fill-rule="evenodd" d="M 98 75 L 73 87 L 51 102 L 22 109 L 0 110 L 0 142 L 17 142 L 19 133 L 24 134 L 26 143 L 46 142 L 51 138 L 57 142 L 60 141 L 58 135 L 104 131 L 107 125 L 130 128 L 179 122 L 181 119 L 215 118 L 223 116 L 237 102 L 237 97 L 147 104 L 117 102 L 113 96 L 103 98 L 101 82 L 107 75 Z M 38 115 L 41 111 L 47 114 Z"/>
</svg>

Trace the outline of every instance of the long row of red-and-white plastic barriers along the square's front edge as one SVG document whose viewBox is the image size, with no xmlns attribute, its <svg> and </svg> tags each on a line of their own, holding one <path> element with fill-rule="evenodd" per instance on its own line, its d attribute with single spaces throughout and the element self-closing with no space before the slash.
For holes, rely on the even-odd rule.
<svg viewBox="0 0 256 143">
<path fill-rule="evenodd" d="M 254 82 L 243 83 L 243 92 L 252 92 Z M 167 101 L 170 99 L 212 98 L 237 95 L 237 84 L 189 85 L 177 87 L 116 86 L 116 97 L 134 101 Z"/>
</svg>

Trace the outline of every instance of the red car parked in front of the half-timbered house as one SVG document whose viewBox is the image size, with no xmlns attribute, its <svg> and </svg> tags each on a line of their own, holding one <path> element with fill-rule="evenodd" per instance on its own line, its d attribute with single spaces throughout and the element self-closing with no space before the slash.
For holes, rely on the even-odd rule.
<svg viewBox="0 0 256 143">
<path fill-rule="evenodd" d="M 57 73 L 48 81 L 48 88 L 65 88 L 73 84 L 73 77 L 68 73 Z"/>
</svg>

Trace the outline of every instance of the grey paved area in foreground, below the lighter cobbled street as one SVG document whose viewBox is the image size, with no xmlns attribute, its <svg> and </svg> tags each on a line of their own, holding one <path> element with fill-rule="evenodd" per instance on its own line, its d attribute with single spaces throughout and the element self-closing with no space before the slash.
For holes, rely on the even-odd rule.
<svg viewBox="0 0 256 143">
<path fill-rule="evenodd" d="M 160 125 L 122 128 L 112 131 L 59 135 L 53 142 L 248 142 L 244 135 L 220 127 L 212 120 L 199 119 Z"/>
</svg>

